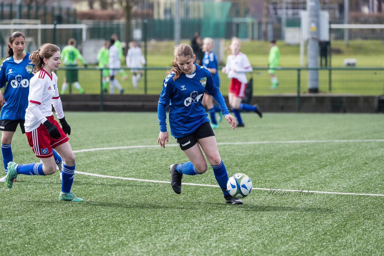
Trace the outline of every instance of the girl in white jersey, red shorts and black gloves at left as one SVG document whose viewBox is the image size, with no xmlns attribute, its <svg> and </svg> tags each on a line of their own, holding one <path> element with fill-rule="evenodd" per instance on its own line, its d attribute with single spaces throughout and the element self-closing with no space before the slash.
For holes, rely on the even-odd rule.
<svg viewBox="0 0 384 256">
<path fill-rule="evenodd" d="M 51 175 L 56 172 L 56 163 L 52 149 L 56 149 L 64 160 L 62 185 L 59 200 L 83 201 L 71 192 L 76 160 L 66 134 L 71 134 L 71 127 L 65 121 L 63 106 L 57 88 L 57 70 L 61 63 L 60 48 L 53 44 L 44 44 L 39 50 L 30 55 L 34 64 L 33 78 L 30 80 L 28 107 L 25 114 L 25 132 L 30 146 L 36 157 L 42 163 L 16 164 L 8 163 L 5 185 L 12 188 L 13 179 L 18 174 Z M 60 120 L 55 120 L 52 105 Z"/>
</svg>

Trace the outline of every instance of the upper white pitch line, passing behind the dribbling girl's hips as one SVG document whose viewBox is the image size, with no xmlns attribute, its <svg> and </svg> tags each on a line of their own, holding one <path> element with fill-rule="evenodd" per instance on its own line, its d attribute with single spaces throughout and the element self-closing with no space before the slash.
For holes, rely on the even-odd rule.
<svg viewBox="0 0 384 256">
<path fill-rule="evenodd" d="M 324 143 L 324 142 L 384 142 L 384 139 L 366 139 L 366 140 L 277 140 L 277 141 L 250 141 L 250 142 L 218 142 L 217 145 L 247 145 L 247 144 L 285 144 L 285 143 Z M 176 147 L 177 144 L 168 144 L 167 147 Z M 140 148 L 150 148 L 150 147 L 160 147 L 157 145 L 137 145 L 137 146 L 125 146 L 125 147 L 100 147 L 94 149 L 80 149 L 73 150 L 73 153 L 79 152 L 89 152 L 89 151 L 98 151 L 98 150 L 113 150 L 113 149 L 140 149 Z"/>
</svg>

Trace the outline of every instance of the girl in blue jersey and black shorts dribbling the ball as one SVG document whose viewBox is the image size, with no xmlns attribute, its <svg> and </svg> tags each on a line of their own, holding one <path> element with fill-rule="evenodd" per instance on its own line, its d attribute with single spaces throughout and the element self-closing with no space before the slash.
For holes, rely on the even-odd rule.
<svg viewBox="0 0 384 256">
<path fill-rule="evenodd" d="M 215 85 L 208 69 L 194 64 L 195 55 L 187 44 L 176 45 L 173 68 L 164 79 L 157 114 L 160 134 L 157 143 L 165 148 L 168 143 L 166 109 L 169 105 L 169 125 L 172 136 L 189 158 L 189 162 L 172 164 L 169 167 L 170 182 L 175 193 L 181 193 L 182 175 L 196 175 L 207 171 L 207 162 L 200 147 L 211 164 L 225 202 L 242 204 L 227 191 L 228 174 L 217 150 L 217 142 L 201 99 L 207 90 L 222 109 L 223 116 L 235 129 L 235 118 L 229 114 L 224 98 Z"/>
</svg>

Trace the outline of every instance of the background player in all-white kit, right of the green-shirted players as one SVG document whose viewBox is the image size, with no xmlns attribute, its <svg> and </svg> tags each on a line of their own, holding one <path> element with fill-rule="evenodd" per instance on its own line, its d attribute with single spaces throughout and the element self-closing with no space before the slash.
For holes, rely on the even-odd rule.
<svg viewBox="0 0 384 256">
<path fill-rule="evenodd" d="M 132 47 L 128 49 L 127 53 L 127 67 L 131 68 L 132 74 L 132 84 L 134 88 L 137 88 L 137 83 L 139 82 L 139 79 L 141 78 L 141 75 L 143 71 L 141 68 L 142 65 L 145 65 L 146 61 L 144 59 L 144 56 L 141 53 L 140 47 L 137 46 L 136 41 L 132 41 Z"/>
</svg>

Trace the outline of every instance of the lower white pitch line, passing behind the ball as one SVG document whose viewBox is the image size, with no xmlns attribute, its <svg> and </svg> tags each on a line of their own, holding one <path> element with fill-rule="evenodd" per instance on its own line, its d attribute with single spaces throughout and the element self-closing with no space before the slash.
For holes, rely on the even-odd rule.
<svg viewBox="0 0 384 256">
<path fill-rule="evenodd" d="M 89 173 L 89 172 L 79 172 L 75 171 L 79 174 L 89 175 L 89 176 L 95 176 L 95 177 L 102 177 L 102 178 L 115 178 L 120 180 L 135 180 L 135 181 L 143 181 L 143 182 L 155 182 L 155 183 L 170 183 L 169 181 L 162 181 L 162 180 L 144 180 L 144 179 L 137 179 L 137 178 L 126 178 L 126 177 L 117 177 L 117 176 L 109 176 L 109 175 L 101 175 L 101 174 L 95 174 L 95 173 Z M 196 184 L 196 183 L 183 183 L 183 185 L 190 185 L 190 186 L 201 186 L 201 187 L 219 187 L 218 185 L 209 185 L 209 184 Z M 271 191 L 270 188 L 252 188 L 255 190 L 267 190 Z M 275 189 L 273 189 L 275 190 Z M 295 192 L 299 190 L 292 190 L 292 189 L 276 189 L 276 192 L 279 191 L 288 191 L 288 192 Z M 306 191 L 303 191 L 307 193 Z M 325 191 L 308 191 L 309 193 L 320 193 L 320 194 L 338 194 L 338 195 L 363 195 L 363 196 L 379 196 L 384 197 L 382 194 L 366 194 L 366 193 L 343 193 L 343 192 L 325 192 Z"/>
</svg>

